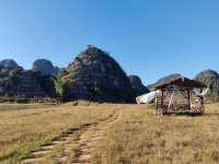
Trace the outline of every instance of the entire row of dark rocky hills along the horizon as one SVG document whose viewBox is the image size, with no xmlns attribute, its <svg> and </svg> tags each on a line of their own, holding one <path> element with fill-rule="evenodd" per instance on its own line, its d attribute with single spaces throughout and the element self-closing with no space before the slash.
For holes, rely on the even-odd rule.
<svg viewBox="0 0 219 164">
<path fill-rule="evenodd" d="M 127 77 L 119 63 L 104 50 L 89 46 L 66 68 L 59 69 L 47 59 L 37 59 L 24 70 L 13 59 L 0 61 L 0 97 L 57 97 L 65 101 L 134 103 L 135 97 L 152 91 L 155 85 L 177 78 L 178 73 L 145 86 L 138 75 Z M 219 101 L 219 74 L 214 70 L 198 73 L 197 80 L 210 92 L 207 97 Z"/>
</svg>

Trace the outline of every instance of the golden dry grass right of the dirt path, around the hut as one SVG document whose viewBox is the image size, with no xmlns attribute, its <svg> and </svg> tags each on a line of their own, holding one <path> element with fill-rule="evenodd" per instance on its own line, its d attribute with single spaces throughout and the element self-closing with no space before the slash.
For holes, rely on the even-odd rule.
<svg viewBox="0 0 219 164">
<path fill-rule="evenodd" d="M 219 104 L 207 105 L 197 117 L 159 117 L 151 108 L 124 106 L 123 119 L 106 132 L 93 163 L 219 163 Z"/>
</svg>

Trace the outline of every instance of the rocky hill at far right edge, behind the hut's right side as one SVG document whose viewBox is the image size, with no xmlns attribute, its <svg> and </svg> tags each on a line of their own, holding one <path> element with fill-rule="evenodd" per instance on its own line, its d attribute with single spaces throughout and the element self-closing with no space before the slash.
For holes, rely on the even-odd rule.
<svg viewBox="0 0 219 164">
<path fill-rule="evenodd" d="M 219 101 L 219 74 L 214 70 L 204 70 L 195 77 L 195 80 L 209 86 L 208 97 L 211 101 Z"/>
</svg>

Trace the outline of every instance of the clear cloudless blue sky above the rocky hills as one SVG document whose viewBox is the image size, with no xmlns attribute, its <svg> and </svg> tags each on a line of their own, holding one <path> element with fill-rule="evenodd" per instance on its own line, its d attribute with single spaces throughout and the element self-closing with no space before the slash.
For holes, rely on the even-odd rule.
<svg viewBox="0 0 219 164">
<path fill-rule="evenodd" d="M 146 84 L 219 71 L 219 1 L 0 0 L 0 59 L 65 67 L 89 44 Z"/>
</svg>

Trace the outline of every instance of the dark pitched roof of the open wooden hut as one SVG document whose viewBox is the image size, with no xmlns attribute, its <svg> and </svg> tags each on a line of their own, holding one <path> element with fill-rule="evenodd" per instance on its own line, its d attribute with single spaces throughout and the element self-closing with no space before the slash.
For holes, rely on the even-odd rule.
<svg viewBox="0 0 219 164">
<path fill-rule="evenodd" d="M 170 85 L 176 85 L 178 87 L 186 87 L 186 89 L 207 87 L 205 84 L 203 84 L 198 81 L 191 80 L 181 74 L 172 74 L 172 75 L 169 75 L 169 77 L 165 77 L 165 78 L 162 78 L 161 80 L 159 80 L 153 85 L 153 90 L 165 89 Z"/>
</svg>

